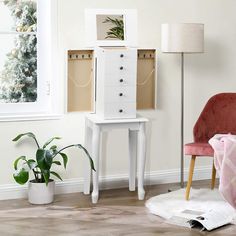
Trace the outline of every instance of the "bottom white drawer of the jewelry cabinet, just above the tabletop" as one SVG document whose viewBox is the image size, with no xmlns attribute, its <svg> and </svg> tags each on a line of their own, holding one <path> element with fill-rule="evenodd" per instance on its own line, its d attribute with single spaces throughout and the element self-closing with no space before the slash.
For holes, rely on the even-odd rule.
<svg viewBox="0 0 236 236">
<path fill-rule="evenodd" d="M 105 103 L 104 118 L 136 118 L 136 102 Z"/>
</svg>

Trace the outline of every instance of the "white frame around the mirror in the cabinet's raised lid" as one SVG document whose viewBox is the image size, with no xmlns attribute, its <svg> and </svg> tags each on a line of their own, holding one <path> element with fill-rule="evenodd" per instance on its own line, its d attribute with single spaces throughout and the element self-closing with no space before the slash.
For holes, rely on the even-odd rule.
<svg viewBox="0 0 236 236">
<path fill-rule="evenodd" d="M 116 16 L 116 17 L 115 17 Z M 100 33 L 100 18 L 122 18 L 124 39 L 105 38 Z M 101 21 L 101 19 L 100 19 Z M 104 23 L 104 22 L 102 22 Z M 137 47 L 137 10 L 135 9 L 85 9 L 85 45 Z"/>
</svg>

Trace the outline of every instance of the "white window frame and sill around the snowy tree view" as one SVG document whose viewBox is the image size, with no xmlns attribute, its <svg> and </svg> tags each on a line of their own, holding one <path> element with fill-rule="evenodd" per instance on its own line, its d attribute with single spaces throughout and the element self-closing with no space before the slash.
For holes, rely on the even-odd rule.
<svg viewBox="0 0 236 236">
<path fill-rule="evenodd" d="M 0 121 L 41 120 L 61 117 L 58 97 L 57 0 L 37 1 L 37 101 L 0 103 Z M 16 32 L 14 32 L 16 34 Z"/>
</svg>

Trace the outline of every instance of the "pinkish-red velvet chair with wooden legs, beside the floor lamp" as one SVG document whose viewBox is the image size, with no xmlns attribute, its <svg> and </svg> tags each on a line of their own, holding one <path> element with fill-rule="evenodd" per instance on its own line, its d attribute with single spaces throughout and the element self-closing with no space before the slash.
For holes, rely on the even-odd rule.
<svg viewBox="0 0 236 236">
<path fill-rule="evenodd" d="M 215 134 L 236 134 L 236 93 L 220 93 L 211 97 L 193 128 L 193 143 L 184 145 L 185 155 L 191 155 L 186 200 L 189 199 L 195 159 L 197 156 L 213 157 L 208 140 Z M 215 186 L 216 170 L 212 167 L 211 188 Z"/>
</svg>

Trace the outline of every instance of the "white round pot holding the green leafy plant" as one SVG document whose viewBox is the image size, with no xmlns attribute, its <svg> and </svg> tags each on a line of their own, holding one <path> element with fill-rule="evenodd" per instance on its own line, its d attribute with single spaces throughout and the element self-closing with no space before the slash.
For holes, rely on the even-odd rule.
<svg viewBox="0 0 236 236">
<path fill-rule="evenodd" d="M 45 183 L 34 183 L 29 181 L 28 200 L 31 204 L 49 204 L 53 202 L 55 192 L 55 181 Z"/>
</svg>

